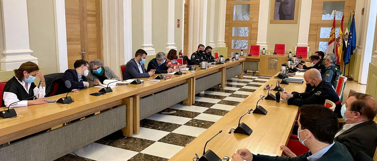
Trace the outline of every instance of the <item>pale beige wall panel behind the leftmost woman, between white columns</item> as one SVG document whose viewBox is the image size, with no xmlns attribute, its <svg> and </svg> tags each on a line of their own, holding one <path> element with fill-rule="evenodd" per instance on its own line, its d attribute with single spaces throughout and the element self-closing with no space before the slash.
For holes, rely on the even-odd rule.
<svg viewBox="0 0 377 161">
<path fill-rule="evenodd" d="M 54 4 L 52 0 L 27 0 L 31 54 L 44 74 L 57 72 Z"/>
</svg>

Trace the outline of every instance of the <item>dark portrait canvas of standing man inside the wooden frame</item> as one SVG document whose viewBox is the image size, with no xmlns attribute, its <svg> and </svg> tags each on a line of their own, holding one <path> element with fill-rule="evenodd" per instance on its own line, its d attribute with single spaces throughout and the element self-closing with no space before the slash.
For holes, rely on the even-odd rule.
<svg viewBox="0 0 377 161">
<path fill-rule="evenodd" d="M 280 2 L 279 20 L 293 20 L 296 0 L 276 0 Z"/>
</svg>

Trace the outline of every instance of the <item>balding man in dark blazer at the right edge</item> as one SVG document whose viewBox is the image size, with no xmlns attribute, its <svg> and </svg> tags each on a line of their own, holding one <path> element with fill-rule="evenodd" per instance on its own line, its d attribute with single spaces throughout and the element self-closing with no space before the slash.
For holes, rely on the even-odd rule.
<svg viewBox="0 0 377 161">
<path fill-rule="evenodd" d="M 341 113 L 346 125 L 335 134 L 334 140 L 346 146 L 354 159 L 359 151 L 373 158 L 377 147 L 377 125 L 373 121 L 377 114 L 375 99 L 368 94 L 354 93 L 342 106 Z M 296 156 L 288 147 L 280 147 L 285 156 Z"/>
</svg>

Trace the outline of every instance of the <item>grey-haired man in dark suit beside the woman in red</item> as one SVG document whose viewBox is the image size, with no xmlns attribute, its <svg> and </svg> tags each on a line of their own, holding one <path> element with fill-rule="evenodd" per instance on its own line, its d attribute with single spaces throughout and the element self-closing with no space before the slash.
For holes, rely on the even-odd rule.
<svg viewBox="0 0 377 161">
<path fill-rule="evenodd" d="M 174 70 L 172 68 L 169 68 L 166 66 L 166 55 L 164 52 L 158 52 L 156 54 L 156 58 L 153 58 L 148 63 L 147 70 L 155 70 L 157 74 L 160 74 L 160 71 L 162 74 L 171 73 Z"/>
</svg>

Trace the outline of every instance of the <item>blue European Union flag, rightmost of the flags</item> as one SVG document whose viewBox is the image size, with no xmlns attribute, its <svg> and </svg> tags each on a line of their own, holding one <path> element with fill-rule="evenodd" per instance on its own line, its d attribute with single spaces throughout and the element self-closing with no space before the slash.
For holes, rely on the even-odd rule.
<svg viewBox="0 0 377 161">
<path fill-rule="evenodd" d="M 356 49 L 356 29 L 355 29 L 355 14 L 352 15 L 352 23 L 349 29 L 348 42 L 346 53 L 344 54 L 343 61 L 344 65 L 349 63 L 353 50 Z"/>
</svg>

